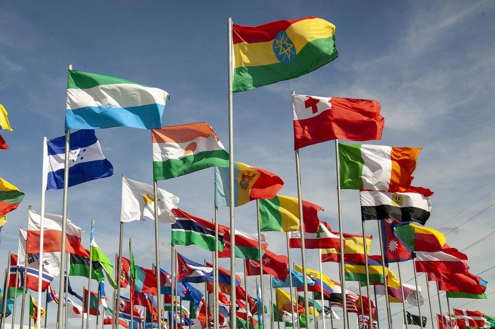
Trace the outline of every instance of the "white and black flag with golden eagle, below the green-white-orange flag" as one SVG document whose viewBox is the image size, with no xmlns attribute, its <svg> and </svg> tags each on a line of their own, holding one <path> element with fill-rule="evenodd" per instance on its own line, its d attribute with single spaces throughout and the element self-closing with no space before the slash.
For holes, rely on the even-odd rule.
<svg viewBox="0 0 495 329">
<path fill-rule="evenodd" d="M 363 221 L 395 220 L 425 225 L 432 210 L 431 196 L 420 193 L 360 191 Z"/>
</svg>

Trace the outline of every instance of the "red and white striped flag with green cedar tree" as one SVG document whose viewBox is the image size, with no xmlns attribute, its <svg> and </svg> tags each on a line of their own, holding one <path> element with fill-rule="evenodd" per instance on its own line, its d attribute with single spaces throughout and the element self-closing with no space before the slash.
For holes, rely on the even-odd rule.
<svg viewBox="0 0 495 329">
<path fill-rule="evenodd" d="M 336 248 L 340 250 L 339 234 L 333 233 L 327 222 L 322 221 L 320 221 L 315 233 L 305 230 L 304 243 L 306 249 Z M 299 231 L 289 232 L 289 246 L 291 248 L 301 247 L 301 233 Z"/>
</svg>

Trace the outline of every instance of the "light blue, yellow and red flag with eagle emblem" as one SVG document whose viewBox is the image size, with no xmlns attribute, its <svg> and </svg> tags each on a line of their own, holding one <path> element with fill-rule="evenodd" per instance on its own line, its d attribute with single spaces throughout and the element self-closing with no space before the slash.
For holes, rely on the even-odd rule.
<svg viewBox="0 0 495 329">
<path fill-rule="evenodd" d="M 229 168 L 215 167 L 215 206 L 230 206 Z M 257 199 L 273 199 L 284 186 L 276 174 L 234 162 L 234 202 L 243 205 Z"/>
</svg>

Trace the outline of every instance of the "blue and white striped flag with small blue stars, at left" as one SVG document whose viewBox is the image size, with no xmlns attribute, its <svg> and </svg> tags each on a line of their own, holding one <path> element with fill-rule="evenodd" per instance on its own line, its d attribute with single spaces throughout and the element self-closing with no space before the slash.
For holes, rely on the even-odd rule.
<svg viewBox="0 0 495 329">
<path fill-rule="evenodd" d="M 63 189 L 65 136 L 47 141 L 44 163 L 46 164 L 47 190 Z M 103 156 L 94 130 L 78 130 L 70 134 L 68 186 L 88 180 L 110 177 L 114 167 Z"/>
</svg>

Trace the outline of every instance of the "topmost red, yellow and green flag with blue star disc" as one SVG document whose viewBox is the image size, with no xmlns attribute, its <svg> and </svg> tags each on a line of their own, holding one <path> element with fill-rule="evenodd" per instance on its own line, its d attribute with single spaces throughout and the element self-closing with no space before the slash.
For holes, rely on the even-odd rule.
<svg viewBox="0 0 495 329">
<path fill-rule="evenodd" d="M 305 75 L 337 58 L 335 25 L 319 17 L 232 26 L 232 91 Z"/>
</svg>

